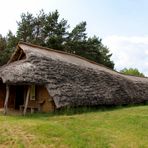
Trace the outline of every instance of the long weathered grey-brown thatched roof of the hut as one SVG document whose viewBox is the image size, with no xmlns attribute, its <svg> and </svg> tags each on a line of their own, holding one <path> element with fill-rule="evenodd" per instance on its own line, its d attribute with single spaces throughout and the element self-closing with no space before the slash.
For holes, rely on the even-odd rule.
<svg viewBox="0 0 148 148">
<path fill-rule="evenodd" d="M 23 53 L 25 59 L 16 61 Z M 120 105 L 148 101 L 148 78 L 127 76 L 82 57 L 19 43 L 0 69 L 7 84 L 41 84 L 56 107 Z"/>
</svg>

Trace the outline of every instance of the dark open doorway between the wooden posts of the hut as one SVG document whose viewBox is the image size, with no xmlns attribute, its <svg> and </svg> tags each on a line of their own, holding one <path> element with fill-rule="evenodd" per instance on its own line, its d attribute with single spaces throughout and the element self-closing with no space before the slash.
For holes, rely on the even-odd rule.
<svg viewBox="0 0 148 148">
<path fill-rule="evenodd" d="M 24 86 L 16 86 L 15 109 L 19 109 L 24 104 Z"/>
</svg>

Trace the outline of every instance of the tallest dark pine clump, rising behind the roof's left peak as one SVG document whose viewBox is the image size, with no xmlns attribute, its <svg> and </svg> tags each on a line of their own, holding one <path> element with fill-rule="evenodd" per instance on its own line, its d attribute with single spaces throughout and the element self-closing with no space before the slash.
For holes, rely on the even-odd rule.
<svg viewBox="0 0 148 148">
<path fill-rule="evenodd" d="M 41 10 L 36 17 L 27 12 L 21 15 L 21 21 L 18 22 L 17 38 L 24 42 L 62 50 L 68 28 L 66 20 L 59 21 L 57 10 L 49 14 Z"/>
</svg>

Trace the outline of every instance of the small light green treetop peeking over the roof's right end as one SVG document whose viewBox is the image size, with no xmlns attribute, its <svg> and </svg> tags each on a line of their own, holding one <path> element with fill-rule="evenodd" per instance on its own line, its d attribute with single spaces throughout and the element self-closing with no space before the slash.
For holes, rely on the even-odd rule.
<svg viewBox="0 0 148 148">
<path fill-rule="evenodd" d="M 123 73 L 123 74 L 127 74 L 127 75 L 145 77 L 144 74 L 139 72 L 139 70 L 137 68 L 129 68 L 129 69 L 124 68 L 120 72 Z"/>
</svg>

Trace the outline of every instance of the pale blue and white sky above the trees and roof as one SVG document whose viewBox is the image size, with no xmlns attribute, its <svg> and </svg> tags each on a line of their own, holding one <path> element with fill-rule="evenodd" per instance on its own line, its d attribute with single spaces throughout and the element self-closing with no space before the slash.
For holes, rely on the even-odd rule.
<svg viewBox="0 0 148 148">
<path fill-rule="evenodd" d="M 137 68 L 148 76 L 148 0 L 1 0 L 0 34 L 17 30 L 21 13 L 58 10 L 71 28 L 87 22 L 88 36 L 102 39 L 115 69 Z"/>
</svg>

